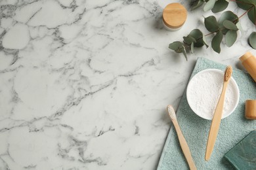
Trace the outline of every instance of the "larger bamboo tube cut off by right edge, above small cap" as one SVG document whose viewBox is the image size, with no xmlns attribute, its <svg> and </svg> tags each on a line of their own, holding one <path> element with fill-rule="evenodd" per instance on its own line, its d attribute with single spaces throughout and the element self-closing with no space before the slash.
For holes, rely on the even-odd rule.
<svg viewBox="0 0 256 170">
<path fill-rule="evenodd" d="M 240 57 L 240 61 L 248 73 L 251 75 L 253 80 L 256 82 L 256 58 L 251 54 L 251 52 L 246 52 Z"/>
</svg>

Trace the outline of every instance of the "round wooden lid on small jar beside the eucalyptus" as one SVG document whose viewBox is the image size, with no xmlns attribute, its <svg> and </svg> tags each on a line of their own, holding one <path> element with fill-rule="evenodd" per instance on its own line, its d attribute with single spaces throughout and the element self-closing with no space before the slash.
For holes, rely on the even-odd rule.
<svg viewBox="0 0 256 170">
<path fill-rule="evenodd" d="M 167 27 L 179 28 L 186 21 L 186 9 L 180 3 L 170 3 L 163 9 L 163 22 Z"/>
</svg>

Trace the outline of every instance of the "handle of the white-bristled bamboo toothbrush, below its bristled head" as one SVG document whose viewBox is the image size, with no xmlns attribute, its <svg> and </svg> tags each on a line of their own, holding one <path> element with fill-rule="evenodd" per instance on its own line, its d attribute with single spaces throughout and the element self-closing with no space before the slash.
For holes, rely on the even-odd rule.
<svg viewBox="0 0 256 170">
<path fill-rule="evenodd" d="M 181 149 L 186 158 L 186 161 L 188 162 L 188 166 L 190 167 L 190 170 L 196 170 L 196 165 L 192 159 L 190 150 L 188 148 L 188 144 L 186 143 L 186 140 L 185 140 L 184 136 L 182 135 L 181 128 L 180 128 L 177 120 L 173 120 L 173 125 L 177 131 L 179 142 L 181 144 Z"/>
</svg>

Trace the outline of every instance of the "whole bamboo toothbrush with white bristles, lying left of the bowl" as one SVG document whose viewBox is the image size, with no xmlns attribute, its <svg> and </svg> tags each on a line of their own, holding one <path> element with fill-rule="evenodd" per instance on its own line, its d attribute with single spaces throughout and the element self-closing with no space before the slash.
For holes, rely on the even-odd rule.
<svg viewBox="0 0 256 170">
<path fill-rule="evenodd" d="M 190 170 L 196 170 L 196 165 L 192 159 L 190 150 L 188 148 L 188 144 L 186 143 L 186 140 L 185 140 L 184 136 L 182 135 L 181 128 L 178 124 L 175 110 L 173 109 L 173 107 L 171 105 L 168 105 L 167 111 L 168 111 L 169 117 L 171 118 L 171 121 L 173 122 L 173 125 L 177 131 L 179 142 L 181 144 L 181 149 L 186 158 L 186 161 L 188 161 L 188 166 L 190 167 Z"/>
</svg>

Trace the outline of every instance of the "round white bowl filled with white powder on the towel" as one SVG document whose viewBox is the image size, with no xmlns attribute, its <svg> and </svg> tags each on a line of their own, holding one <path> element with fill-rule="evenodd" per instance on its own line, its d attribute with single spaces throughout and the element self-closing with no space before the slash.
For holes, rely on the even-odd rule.
<svg viewBox="0 0 256 170">
<path fill-rule="evenodd" d="M 224 71 L 219 69 L 205 69 L 191 78 L 186 89 L 186 98 L 188 105 L 198 116 L 212 120 L 223 89 L 223 78 Z M 234 112 L 238 106 L 239 97 L 238 84 L 231 77 L 226 89 L 222 118 Z"/>
</svg>

